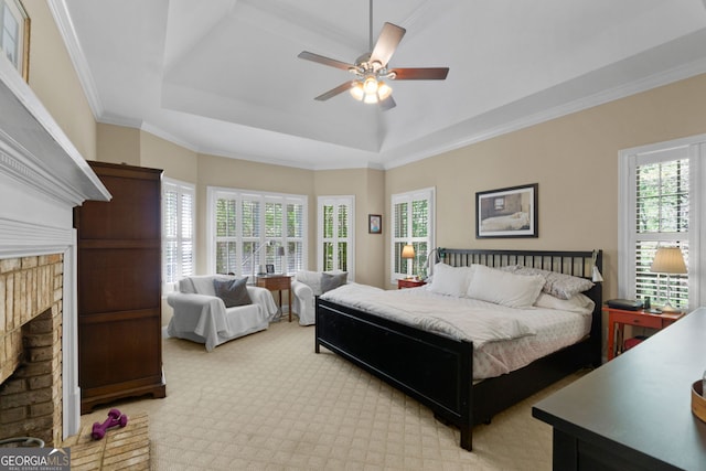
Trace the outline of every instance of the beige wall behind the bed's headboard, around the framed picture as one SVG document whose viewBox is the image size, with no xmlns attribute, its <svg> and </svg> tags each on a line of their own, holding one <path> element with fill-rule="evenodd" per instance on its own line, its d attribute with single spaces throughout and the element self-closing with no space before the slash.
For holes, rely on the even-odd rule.
<svg viewBox="0 0 706 471">
<path fill-rule="evenodd" d="M 610 299 L 618 292 L 618 152 L 706 132 L 704 97 L 700 75 L 393 169 L 385 200 L 436 186 L 441 247 L 601 248 Z M 539 237 L 477 239 L 475 192 L 525 183 L 539 184 Z M 388 253 L 385 261 L 387 272 Z"/>
</svg>

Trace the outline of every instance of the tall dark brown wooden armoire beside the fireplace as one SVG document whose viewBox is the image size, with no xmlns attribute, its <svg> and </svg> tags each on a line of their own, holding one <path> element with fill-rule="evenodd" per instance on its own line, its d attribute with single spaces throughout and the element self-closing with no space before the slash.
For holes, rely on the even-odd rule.
<svg viewBox="0 0 706 471">
<path fill-rule="evenodd" d="M 161 175 L 88 162 L 113 195 L 76 207 L 81 411 L 164 397 L 161 340 Z"/>
</svg>

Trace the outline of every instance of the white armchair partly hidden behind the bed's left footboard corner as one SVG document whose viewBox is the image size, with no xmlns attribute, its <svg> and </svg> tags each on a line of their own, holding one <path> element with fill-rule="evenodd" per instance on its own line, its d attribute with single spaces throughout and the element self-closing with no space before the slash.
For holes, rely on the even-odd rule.
<svg viewBox="0 0 706 471">
<path fill-rule="evenodd" d="M 315 323 L 315 298 L 347 282 L 346 271 L 301 270 L 291 281 L 293 312 L 299 314 L 300 325 Z"/>
</svg>

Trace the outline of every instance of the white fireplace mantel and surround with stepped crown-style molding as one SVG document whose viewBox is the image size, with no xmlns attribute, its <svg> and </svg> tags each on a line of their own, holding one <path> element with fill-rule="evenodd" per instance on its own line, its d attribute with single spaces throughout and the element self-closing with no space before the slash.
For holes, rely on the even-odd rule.
<svg viewBox="0 0 706 471">
<path fill-rule="evenodd" d="M 111 196 L 3 54 L 0 110 L 0 258 L 63 254 L 62 429 L 67 438 L 81 425 L 73 208 Z"/>
</svg>

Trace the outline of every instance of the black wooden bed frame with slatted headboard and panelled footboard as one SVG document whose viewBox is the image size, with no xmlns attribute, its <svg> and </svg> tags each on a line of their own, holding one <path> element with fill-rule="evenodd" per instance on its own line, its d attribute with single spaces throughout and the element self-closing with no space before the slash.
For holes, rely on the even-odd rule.
<svg viewBox="0 0 706 471">
<path fill-rule="evenodd" d="M 438 249 L 451 267 L 521 266 L 590 279 L 602 253 L 553 250 Z M 601 285 L 582 295 L 593 301 L 589 333 L 580 341 L 511 373 L 473 381 L 473 342 L 381 317 L 367 308 L 317 300 L 315 346 L 343 356 L 429 407 L 460 430 L 472 450 L 472 428 L 507 407 L 586 366 L 601 364 Z"/>
</svg>

